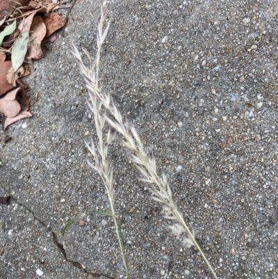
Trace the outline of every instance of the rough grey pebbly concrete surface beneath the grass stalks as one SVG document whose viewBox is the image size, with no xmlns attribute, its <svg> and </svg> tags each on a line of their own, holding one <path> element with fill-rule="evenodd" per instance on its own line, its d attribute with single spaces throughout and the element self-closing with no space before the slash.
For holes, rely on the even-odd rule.
<svg viewBox="0 0 278 279">
<path fill-rule="evenodd" d="M 223 279 L 278 278 L 277 13 L 272 0 L 111 5 L 103 81 Z M 86 164 L 95 130 L 70 54 L 72 41 L 94 54 L 98 16 L 98 1 L 76 3 L 65 38 L 26 79 L 33 118 L 1 141 L 0 196 L 12 196 L 0 205 L 1 278 L 39 278 L 38 269 L 41 278 L 125 278 L 113 220 L 89 214 L 60 234 L 79 212 L 109 211 Z M 110 154 L 131 278 L 212 278 L 170 234 L 118 141 Z"/>
</svg>

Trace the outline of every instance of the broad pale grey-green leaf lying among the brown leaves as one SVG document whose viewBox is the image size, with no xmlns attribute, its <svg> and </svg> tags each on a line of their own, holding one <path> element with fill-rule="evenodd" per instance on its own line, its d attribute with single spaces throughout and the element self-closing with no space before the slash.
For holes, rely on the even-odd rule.
<svg viewBox="0 0 278 279">
<path fill-rule="evenodd" d="M 24 61 L 25 54 L 27 52 L 27 44 L 29 40 L 29 32 L 25 31 L 17 39 L 13 45 L 12 50 L 12 65 L 13 70 L 16 72 Z"/>
</svg>

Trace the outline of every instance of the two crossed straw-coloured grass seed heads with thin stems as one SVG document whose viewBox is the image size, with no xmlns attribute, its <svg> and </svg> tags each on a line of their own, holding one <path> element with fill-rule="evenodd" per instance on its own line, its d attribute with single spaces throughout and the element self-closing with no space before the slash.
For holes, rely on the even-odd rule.
<svg viewBox="0 0 278 279">
<path fill-rule="evenodd" d="M 88 149 L 90 150 L 95 160 L 95 164 L 91 164 L 90 162 L 88 162 L 88 164 L 94 170 L 96 170 L 97 173 L 99 173 L 99 176 L 104 182 L 104 186 L 108 195 L 108 200 L 111 205 L 111 214 L 106 212 L 95 211 L 93 213 L 113 216 L 115 221 L 115 228 L 117 231 L 117 237 L 120 243 L 120 249 L 124 260 L 126 276 L 127 278 L 130 278 L 129 269 L 124 252 L 124 244 L 120 228 L 120 221 L 118 220 L 113 207 L 113 170 L 111 166 L 109 166 L 107 158 L 108 147 L 115 139 L 116 133 L 118 133 L 122 136 L 123 145 L 126 147 L 127 150 L 129 150 L 129 159 L 131 159 L 133 164 L 136 166 L 136 168 L 138 168 L 142 175 L 142 178 L 140 180 L 149 184 L 148 189 L 150 193 L 152 193 L 152 198 L 157 202 L 161 203 L 164 218 L 172 219 L 174 221 L 174 224 L 171 227 L 172 233 L 176 236 L 181 236 L 181 234 L 183 234 L 183 246 L 186 246 L 188 248 L 190 246 L 195 246 L 197 250 L 199 250 L 199 253 L 202 255 L 204 261 L 206 262 L 208 269 L 211 270 L 211 273 L 213 274 L 214 278 L 218 278 L 215 274 L 215 271 L 213 271 L 211 264 L 206 259 L 206 256 L 204 255 L 202 249 L 197 244 L 194 232 L 191 232 L 189 230 L 188 225 L 186 225 L 186 222 L 184 221 L 183 215 L 179 211 L 176 202 L 174 202 L 174 199 L 172 197 L 172 191 L 167 182 L 167 177 L 164 174 L 159 175 L 156 172 L 156 159 L 154 155 L 151 158 L 147 157 L 147 154 L 144 151 L 143 145 L 140 140 L 140 136 L 138 135 L 136 128 L 133 125 L 129 124 L 127 121 L 123 121 L 119 109 L 111 99 L 111 95 L 108 93 L 108 91 L 106 91 L 102 86 L 99 85 L 99 61 L 101 55 L 101 46 L 104 43 L 110 25 L 110 22 L 106 22 L 107 13 L 108 3 L 106 3 L 106 0 L 102 0 L 101 17 L 97 26 L 97 55 L 95 60 L 92 61 L 90 58 L 90 54 L 88 54 L 88 51 L 83 49 L 86 56 L 88 57 L 88 60 L 91 63 L 90 68 L 84 65 L 83 60 L 81 58 L 81 54 L 79 53 L 75 45 L 73 52 L 81 70 L 81 74 L 85 80 L 86 87 L 88 89 L 88 93 L 90 96 L 90 102 L 88 102 L 88 105 L 90 106 L 90 109 L 92 110 L 92 113 L 95 118 L 95 129 L 99 141 L 97 148 L 93 141 L 91 141 L 90 144 L 86 143 Z M 106 25 L 105 29 L 104 25 Z M 108 133 L 104 135 L 104 126 L 106 123 L 108 123 L 110 128 L 108 129 Z M 65 230 L 67 230 L 71 223 L 73 223 L 79 216 L 80 214 L 72 218 L 72 220 L 69 221 L 67 225 L 65 225 L 63 233 L 65 233 Z"/>
</svg>

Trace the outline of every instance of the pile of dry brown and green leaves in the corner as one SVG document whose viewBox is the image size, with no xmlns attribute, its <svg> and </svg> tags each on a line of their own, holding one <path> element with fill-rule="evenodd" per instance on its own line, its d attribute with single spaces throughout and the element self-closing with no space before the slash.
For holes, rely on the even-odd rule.
<svg viewBox="0 0 278 279">
<path fill-rule="evenodd" d="M 31 117 L 28 86 L 22 77 L 30 74 L 28 63 L 44 56 L 42 40 L 54 42 L 55 33 L 67 19 L 54 12 L 58 1 L 0 0 L 0 113 L 6 116 L 3 129 Z M 20 102 L 20 103 L 19 103 Z"/>
</svg>

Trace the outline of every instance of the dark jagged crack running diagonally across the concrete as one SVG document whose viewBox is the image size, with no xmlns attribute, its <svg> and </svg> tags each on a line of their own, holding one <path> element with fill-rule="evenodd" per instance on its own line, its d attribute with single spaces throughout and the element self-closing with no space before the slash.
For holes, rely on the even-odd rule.
<svg viewBox="0 0 278 279">
<path fill-rule="evenodd" d="M 23 205 L 21 202 L 19 202 L 17 200 L 17 198 L 14 198 L 13 195 L 11 193 L 9 193 L 9 191 L 7 191 L 7 189 L 5 189 L 3 186 L 1 186 L 1 188 L 8 193 L 8 195 L 10 196 L 10 200 L 15 201 L 18 205 L 21 205 L 26 210 L 28 210 L 28 212 L 30 212 L 33 215 L 35 220 L 37 220 L 41 225 L 43 225 L 45 228 L 47 228 L 47 230 L 49 232 L 51 232 L 53 243 L 56 245 L 58 250 L 60 250 L 60 253 L 63 254 L 63 257 L 65 258 L 65 260 L 67 262 L 70 262 L 70 264 L 72 264 L 72 266 L 77 267 L 78 269 L 82 269 L 84 271 L 84 273 L 90 274 L 92 276 L 92 278 L 99 278 L 100 276 L 104 276 L 104 277 L 109 278 L 109 279 L 115 279 L 111 276 L 107 276 L 107 275 L 102 274 L 102 273 L 92 273 L 92 272 L 86 270 L 85 267 L 83 267 L 82 264 L 80 264 L 79 262 L 74 262 L 72 260 L 68 260 L 67 259 L 67 253 L 65 251 L 65 248 L 64 248 L 63 244 L 60 244 L 60 242 L 58 241 L 57 234 L 53 230 L 51 230 L 50 226 L 45 224 L 44 222 L 42 222 L 37 216 L 35 216 L 34 212 L 32 212 L 31 209 L 29 209 L 28 207 L 26 207 L 26 205 Z"/>
</svg>

